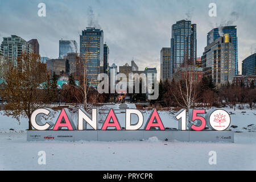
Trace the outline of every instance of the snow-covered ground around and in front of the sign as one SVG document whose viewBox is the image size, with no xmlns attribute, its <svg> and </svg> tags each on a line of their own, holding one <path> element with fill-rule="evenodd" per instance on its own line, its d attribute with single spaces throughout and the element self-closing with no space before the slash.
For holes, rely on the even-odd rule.
<svg viewBox="0 0 256 182">
<path fill-rule="evenodd" d="M 234 143 L 155 138 L 121 142 L 27 142 L 27 119 L 21 119 L 19 124 L 0 114 L 0 170 L 256 170 L 256 110 L 224 109 L 234 113 L 230 115 L 230 126 L 237 128 L 229 128 L 236 131 Z M 115 113 L 124 127 L 125 113 L 118 110 Z M 145 123 L 150 111 L 143 115 Z M 165 127 L 177 128 L 170 111 L 159 111 L 159 115 Z M 73 115 L 74 120 L 76 117 Z M 39 151 L 46 152 L 46 165 L 38 164 Z M 215 165 L 208 163 L 210 151 L 216 151 Z"/>
</svg>

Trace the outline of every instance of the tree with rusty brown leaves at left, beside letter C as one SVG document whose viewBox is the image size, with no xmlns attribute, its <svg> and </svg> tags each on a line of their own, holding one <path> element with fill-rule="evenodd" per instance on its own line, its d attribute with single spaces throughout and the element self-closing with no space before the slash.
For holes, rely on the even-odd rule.
<svg viewBox="0 0 256 182">
<path fill-rule="evenodd" d="M 46 65 L 40 62 L 40 56 L 23 53 L 14 63 L 5 64 L 3 90 L 1 97 L 6 100 L 5 114 L 18 121 L 28 118 L 28 129 L 32 130 L 30 117 L 32 111 L 45 107 L 45 92 L 42 86 L 47 79 Z"/>
</svg>

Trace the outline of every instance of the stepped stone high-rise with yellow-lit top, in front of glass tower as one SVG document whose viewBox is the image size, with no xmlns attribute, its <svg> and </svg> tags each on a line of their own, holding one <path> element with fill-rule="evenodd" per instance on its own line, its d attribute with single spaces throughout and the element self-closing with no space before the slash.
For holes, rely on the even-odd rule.
<svg viewBox="0 0 256 182">
<path fill-rule="evenodd" d="M 235 76 L 235 54 L 228 34 L 214 40 L 204 48 L 201 57 L 203 74 L 212 77 L 217 86 L 231 84 Z"/>
</svg>

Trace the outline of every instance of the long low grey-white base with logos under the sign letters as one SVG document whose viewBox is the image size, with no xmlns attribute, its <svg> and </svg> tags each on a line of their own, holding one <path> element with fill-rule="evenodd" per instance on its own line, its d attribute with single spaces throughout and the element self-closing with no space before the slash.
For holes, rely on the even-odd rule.
<svg viewBox="0 0 256 182">
<path fill-rule="evenodd" d="M 122 140 L 147 140 L 157 137 L 159 140 L 178 140 L 181 142 L 234 142 L 233 131 L 176 131 L 176 130 L 29 130 L 27 141 L 122 141 Z"/>
</svg>

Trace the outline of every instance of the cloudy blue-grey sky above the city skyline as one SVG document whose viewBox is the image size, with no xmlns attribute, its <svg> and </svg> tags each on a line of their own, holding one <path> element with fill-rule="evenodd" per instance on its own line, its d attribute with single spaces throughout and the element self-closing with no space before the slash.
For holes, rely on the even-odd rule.
<svg viewBox="0 0 256 182">
<path fill-rule="evenodd" d="M 46 4 L 46 17 L 38 4 Z M 209 3 L 217 16 L 208 15 Z M 197 57 L 203 54 L 207 33 L 221 25 L 236 25 L 238 62 L 256 51 L 256 1 L 207 0 L 0 0 L 0 40 L 18 35 L 38 39 L 40 55 L 59 57 L 59 40 L 76 40 L 86 27 L 101 28 L 110 61 L 119 65 L 135 60 L 139 69 L 160 69 L 160 49 L 170 47 L 171 26 L 181 19 L 197 24 Z"/>
</svg>

